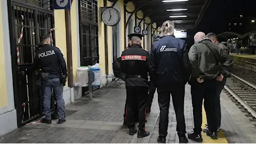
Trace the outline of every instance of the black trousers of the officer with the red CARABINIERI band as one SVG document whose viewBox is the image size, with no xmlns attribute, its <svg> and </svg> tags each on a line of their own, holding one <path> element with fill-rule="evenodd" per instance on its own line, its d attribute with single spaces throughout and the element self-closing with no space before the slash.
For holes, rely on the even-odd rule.
<svg viewBox="0 0 256 144">
<path fill-rule="evenodd" d="M 139 111 L 139 129 L 144 130 L 146 120 L 146 98 L 149 88 L 144 86 L 126 86 L 127 126 L 135 127 L 135 112 Z"/>
</svg>

